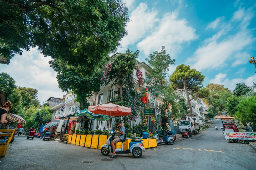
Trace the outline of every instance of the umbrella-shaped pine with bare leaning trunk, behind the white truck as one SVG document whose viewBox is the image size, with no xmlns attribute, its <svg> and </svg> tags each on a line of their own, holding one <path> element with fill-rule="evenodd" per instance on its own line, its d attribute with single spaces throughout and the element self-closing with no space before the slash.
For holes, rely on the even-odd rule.
<svg viewBox="0 0 256 170">
<path fill-rule="evenodd" d="M 188 106 L 190 109 L 190 116 L 192 116 L 192 106 L 190 101 L 194 98 L 203 98 L 209 96 L 209 90 L 202 88 L 204 75 L 196 69 L 190 69 L 189 65 L 181 64 L 176 67 L 174 73 L 169 80 L 174 89 L 184 89 L 187 96 Z M 189 97 L 192 96 L 192 98 Z"/>
</svg>

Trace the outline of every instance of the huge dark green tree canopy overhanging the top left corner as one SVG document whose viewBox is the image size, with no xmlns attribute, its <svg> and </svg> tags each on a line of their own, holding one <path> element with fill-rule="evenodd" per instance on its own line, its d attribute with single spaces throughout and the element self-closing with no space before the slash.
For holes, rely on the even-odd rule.
<svg viewBox="0 0 256 170">
<path fill-rule="evenodd" d="M 128 22 L 121 0 L 1 0 L 0 54 L 11 58 L 37 46 L 90 75 L 120 46 Z"/>
</svg>

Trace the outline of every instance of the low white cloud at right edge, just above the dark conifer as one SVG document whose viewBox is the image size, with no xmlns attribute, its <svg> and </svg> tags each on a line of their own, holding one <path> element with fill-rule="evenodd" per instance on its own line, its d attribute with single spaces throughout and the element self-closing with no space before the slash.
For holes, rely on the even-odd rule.
<svg viewBox="0 0 256 170">
<path fill-rule="evenodd" d="M 247 86 L 251 86 L 253 82 L 256 82 L 256 74 L 253 76 L 248 77 L 247 79 L 243 78 L 234 78 L 229 80 L 226 78 L 227 74 L 219 73 L 215 76 L 214 79 L 210 80 L 210 83 L 215 84 L 223 84 L 225 87 L 229 88 L 229 90 L 234 90 L 236 83 L 244 82 Z"/>
</svg>

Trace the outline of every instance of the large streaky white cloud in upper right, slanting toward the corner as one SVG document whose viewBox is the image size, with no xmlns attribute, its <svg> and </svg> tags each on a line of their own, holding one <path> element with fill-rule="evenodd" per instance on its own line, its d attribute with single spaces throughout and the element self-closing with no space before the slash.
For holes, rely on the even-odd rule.
<svg viewBox="0 0 256 170">
<path fill-rule="evenodd" d="M 194 55 L 187 60 L 190 64 L 192 63 L 192 68 L 197 70 L 217 69 L 226 64 L 237 66 L 245 63 L 244 55 L 247 56 L 247 53 L 242 53 L 243 58 L 234 57 L 234 55 L 238 56 L 241 50 L 251 48 L 256 38 L 253 36 L 252 30 L 247 29 L 254 16 L 253 7 L 248 8 L 246 13 L 242 12 L 243 10 L 238 9 L 234 12 L 230 21 L 222 23 L 218 33 L 204 40 L 203 45 L 198 47 Z M 237 24 L 238 27 L 236 27 Z M 234 33 L 232 32 L 231 35 L 224 38 L 223 35 L 228 34 L 230 30 Z"/>
</svg>

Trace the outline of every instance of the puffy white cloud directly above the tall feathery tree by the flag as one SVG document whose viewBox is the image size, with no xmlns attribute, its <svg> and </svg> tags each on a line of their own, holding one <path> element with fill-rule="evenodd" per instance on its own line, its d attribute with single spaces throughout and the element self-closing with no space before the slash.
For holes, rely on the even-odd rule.
<svg viewBox="0 0 256 170">
<path fill-rule="evenodd" d="M 155 30 L 137 44 L 139 50 L 142 50 L 145 55 L 161 50 L 161 47 L 165 46 L 166 50 L 175 56 L 181 49 L 181 44 L 198 38 L 196 30 L 188 26 L 185 19 L 178 19 L 175 12 L 165 14 Z"/>
</svg>

